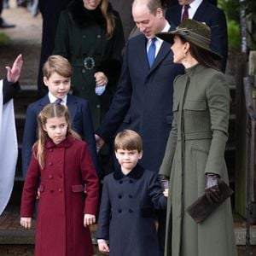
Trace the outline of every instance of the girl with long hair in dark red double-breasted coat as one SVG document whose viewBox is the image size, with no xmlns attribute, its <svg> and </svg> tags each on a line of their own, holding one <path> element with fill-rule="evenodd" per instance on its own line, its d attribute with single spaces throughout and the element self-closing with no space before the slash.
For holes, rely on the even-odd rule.
<svg viewBox="0 0 256 256">
<path fill-rule="evenodd" d="M 67 107 L 57 103 L 38 115 L 38 142 L 20 207 L 20 224 L 26 229 L 31 228 L 37 193 L 35 255 L 91 256 L 89 225 L 96 221 L 98 178 L 86 143 L 71 129 Z"/>
</svg>

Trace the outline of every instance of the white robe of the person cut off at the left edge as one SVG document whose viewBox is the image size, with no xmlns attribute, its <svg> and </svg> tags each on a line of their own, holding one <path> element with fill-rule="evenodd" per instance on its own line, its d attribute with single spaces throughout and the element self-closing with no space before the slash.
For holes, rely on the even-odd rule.
<svg viewBox="0 0 256 256">
<path fill-rule="evenodd" d="M 3 80 L 0 80 L 0 215 L 12 194 L 17 158 L 14 101 L 3 105 Z"/>
</svg>

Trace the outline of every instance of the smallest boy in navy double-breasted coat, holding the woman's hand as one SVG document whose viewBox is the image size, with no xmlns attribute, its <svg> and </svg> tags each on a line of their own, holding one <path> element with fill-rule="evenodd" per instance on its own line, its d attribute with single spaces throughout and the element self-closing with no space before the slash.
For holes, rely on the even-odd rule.
<svg viewBox="0 0 256 256">
<path fill-rule="evenodd" d="M 120 168 L 104 178 L 96 231 L 99 250 L 111 256 L 159 256 L 154 208 L 166 208 L 168 189 L 163 192 L 156 173 L 137 164 L 143 156 L 137 132 L 120 131 L 114 148 Z"/>
</svg>

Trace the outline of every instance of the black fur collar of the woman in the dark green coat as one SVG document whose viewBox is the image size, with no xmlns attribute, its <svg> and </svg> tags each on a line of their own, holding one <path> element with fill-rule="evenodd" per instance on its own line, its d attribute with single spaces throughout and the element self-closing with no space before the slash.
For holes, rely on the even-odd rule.
<svg viewBox="0 0 256 256">
<path fill-rule="evenodd" d="M 84 8 L 83 0 L 73 0 L 67 8 L 69 15 L 79 27 L 90 26 L 91 24 L 99 24 L 106 27 L 106 20 L 102 15 L 99 6 L 94 10 Z M 108 4 L 108 12 L 112 10 L 112 6 Z"/>
</svg>

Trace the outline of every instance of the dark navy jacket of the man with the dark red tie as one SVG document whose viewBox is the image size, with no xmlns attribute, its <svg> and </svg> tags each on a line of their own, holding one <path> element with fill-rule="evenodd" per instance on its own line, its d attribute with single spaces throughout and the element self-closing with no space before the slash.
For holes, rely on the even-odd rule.
<svg viewBox="0 0 256 256">
<path fill-rule="evenodd" d="M 166 20 L 178 26 L 181 22 L 182 5 L 174 5 L 166 10 Z M 207 0 L 203 0 L 195 12 L 193 20 L 206 22 L 211 27 L 211 49 L 223 56 L 220 61 L 220 70 L 224 73 L 228 58 L 228 32 L 224 11 Z"/>
</svg>

